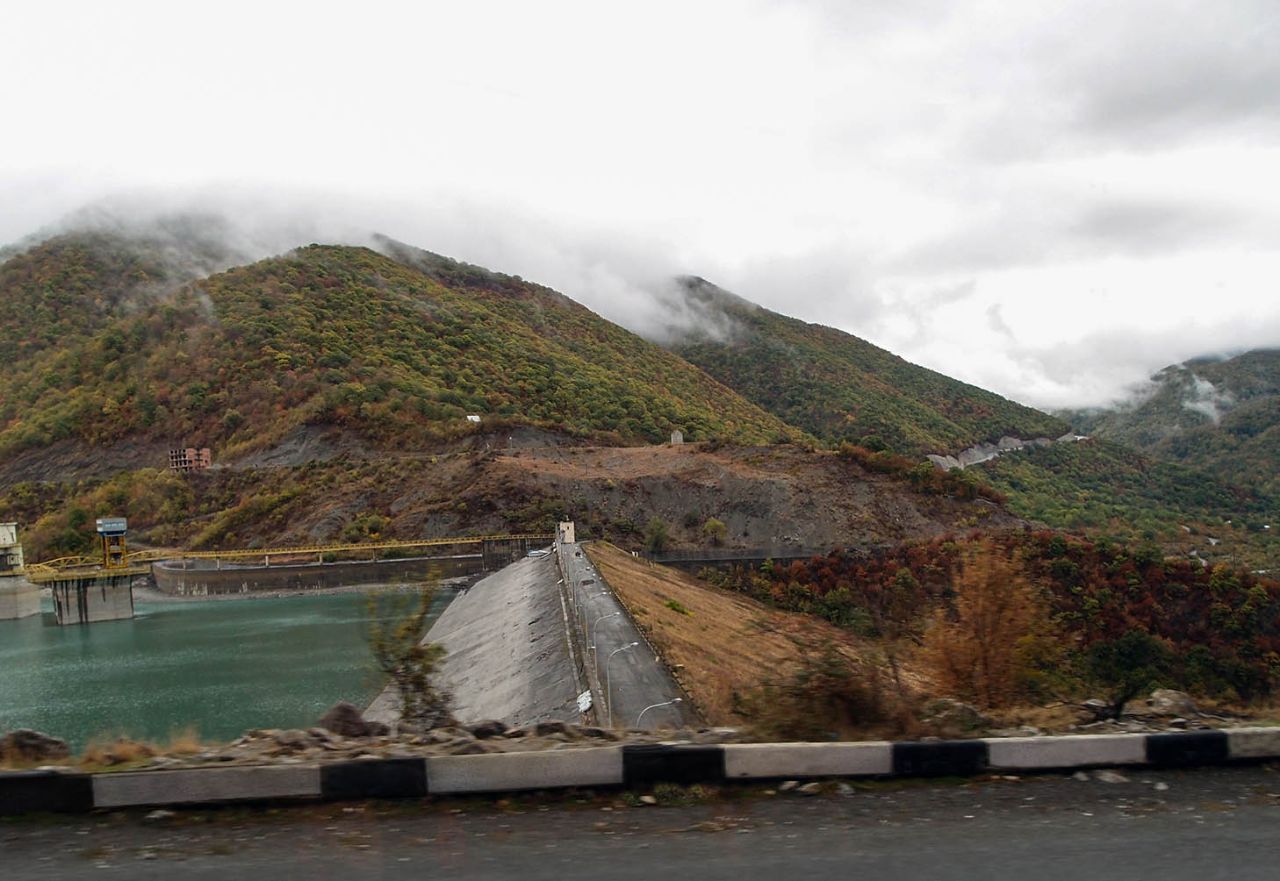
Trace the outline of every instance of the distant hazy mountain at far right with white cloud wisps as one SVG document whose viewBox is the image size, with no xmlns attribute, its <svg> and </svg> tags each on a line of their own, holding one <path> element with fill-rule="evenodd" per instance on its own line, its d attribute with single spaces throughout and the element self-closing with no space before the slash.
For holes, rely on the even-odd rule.
<svg viewBox="0 0 1280 881">
<path fill-rule="evenodd" d="M 1155 458 L 1280 493 L 1280 350 L 1187 361 L 1152 383 L 1137 402 L 1064 416 Z"/>
</svg>

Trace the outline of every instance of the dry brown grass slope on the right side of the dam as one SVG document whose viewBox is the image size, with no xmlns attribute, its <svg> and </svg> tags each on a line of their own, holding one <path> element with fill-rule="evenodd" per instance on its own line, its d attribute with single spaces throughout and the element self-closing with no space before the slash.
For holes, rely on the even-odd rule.
<svg viewBox="0 0 1280 881">
<path fill-rule="evenodd" d="M 603 542 L 588 556 L 712 725 L 740 725 L 735 694 L 794 667 L 827 642 L 859 657 L 852 634 L 808 615 L 782 612 L 719 590 Z"/>
</svg>

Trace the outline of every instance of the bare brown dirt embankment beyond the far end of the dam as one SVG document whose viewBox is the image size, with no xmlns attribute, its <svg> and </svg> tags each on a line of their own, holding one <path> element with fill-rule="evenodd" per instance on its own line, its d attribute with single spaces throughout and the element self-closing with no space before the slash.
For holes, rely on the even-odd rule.
<svg viewBox="0 0 1280 881">
<path fill-rule="evenodd" d="M 498 457 L 493 470 L 568 502 L 588 535 L 626 544 L 639 538 L 627 529 L 653 516 L 677 547 L 704 547 L 712 517 L 726 525 L 730 547 L 865 547 L 1023 525 L 991 502 L 911 492 L 833 453 L 791 446 L 529 449 Z"/>
</svg>

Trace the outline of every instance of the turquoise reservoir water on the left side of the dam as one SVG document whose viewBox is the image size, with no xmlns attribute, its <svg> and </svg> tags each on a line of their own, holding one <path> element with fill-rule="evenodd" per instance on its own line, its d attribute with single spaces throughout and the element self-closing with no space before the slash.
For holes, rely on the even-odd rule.
<svg viewBox="0 0 1280 881">
<path fill-rule="evenodd" d="M 436 598 L 436 613 L 449 592 Z M 73 748 L 195 727 L 229 740 L 307 727 L 337 700 L 383 686 L 362 594 L 138 603 L 132 621 L 60 627 L 45 613 L 0 621 L 0 732 L 46 731 Z"/>
</svg>

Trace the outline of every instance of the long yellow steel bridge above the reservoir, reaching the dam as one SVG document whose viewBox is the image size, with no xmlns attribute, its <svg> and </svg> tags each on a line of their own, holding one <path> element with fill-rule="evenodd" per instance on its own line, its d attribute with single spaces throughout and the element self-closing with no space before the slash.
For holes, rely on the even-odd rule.
<svg viewBox="0 0 1280 881">
<path fill-rule="evenodd" d="M 95 575 L 146 575 L 151 571 L 151 563 L 159 560 L 253 560 L 262 558 L 270 563 L 271 557 L 320 557 L 326 553 L 365 553 L 376 554 L 379 551 L 398 551 L 410 548 L 435 548 L 453 547 L 499 542 L 550 542 L 554 538 L 550 533 L 518 533 L 511 535 L 462 535 L 453 538 L 425 538 L 416 540 L 394 542 L 357 542 L 357 543 L 329 543 L 306 544 L 280 548 L 236 548 L 230 551 L 178 551 L 166 548 L 147 548 L 146 551 L 132 551 L 124 556 L 120 566 L 104 566 L 101 557 L 58 557 L 45 560 L 38 563 L 27 563 L 27 579 L 44 584 L 72 578 L 92 578 Z"/>
</svg>

